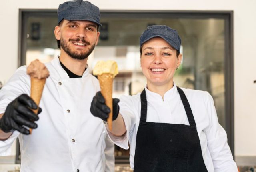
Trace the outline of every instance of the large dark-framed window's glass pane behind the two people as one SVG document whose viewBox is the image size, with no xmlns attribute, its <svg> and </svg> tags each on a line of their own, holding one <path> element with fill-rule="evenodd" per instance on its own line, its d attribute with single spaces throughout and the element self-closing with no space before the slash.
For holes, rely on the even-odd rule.
<svg viewBox="0 0 256 172">
<path fill-rule="evenodd" d="M 60 54 L 54 37 L 56 23 L 56 15 L 28 18 L 26 64 L 35 58 L 47 62 Z M 182 39 L 183 60 L 176 71 L 174 82 L 180 87 L 208 91 L 214 99 L 220 124 L 227 127 L 224 19 L 167 18 L 161 15 L 142 17 L 128 14 L 120 17 L 116 14 L 114 17 L 102 17 L 101 23 L 100 40 L 88 58 L 88 65 L 93 70 L 98 60 L 115 60 L 118 63 L 120 74 L 114 80 L 113 97 L 142 91 L 146 79 L 140 68 L 140 35 L 147 26 L 167 25 L 178 30 Z M 128 155 L 128 152 L 116 148 L 118 155 Z"/>
</svg>

